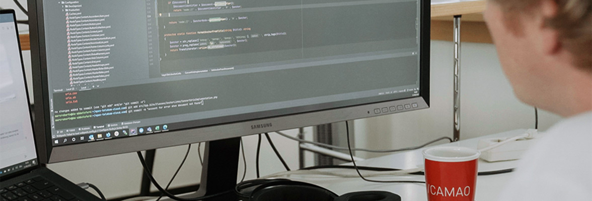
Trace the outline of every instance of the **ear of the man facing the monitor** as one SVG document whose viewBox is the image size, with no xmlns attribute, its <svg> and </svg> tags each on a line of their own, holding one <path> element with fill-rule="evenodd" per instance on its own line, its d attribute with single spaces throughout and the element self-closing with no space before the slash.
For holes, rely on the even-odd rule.
<svg viewBox="0 0 592 201">
<path fill-rule="evenodd" d="M 538 22 L 538 31 L 540 34 L 539 43 L 540 48 L 544 54 L 556 54 L 561 49 L 559 42 L 559 33 L 555 29 L 548 27 L 546 21 L 557 16 L 557 3 L 553 0 L 542 0 L 539 2 L 538 15 L 536 21 Z"/>
</svg>

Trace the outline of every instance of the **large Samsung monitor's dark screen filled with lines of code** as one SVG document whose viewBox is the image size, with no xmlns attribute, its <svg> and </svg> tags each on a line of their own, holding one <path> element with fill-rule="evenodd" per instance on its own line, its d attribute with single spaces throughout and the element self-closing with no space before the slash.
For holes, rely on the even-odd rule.
<svg viewBox="0 0 592 201">
<path fill-rule="evenodd" d="M 427 92 L 422 59 L 429 52 L 422 49 L 422 36 L 429 27 L 422 30 L 420 22 L 429 11 L 421 1 L 35 4 L 39 27 L 32 30 L 39 37 L 39 90 L 50 148 L 419 98 Z M 426 107 L 425 101 L 416 101 L 363 113 Z M 268 124 L 249 124 L 254 130 L 243 134 L 272 127 Z"/>
</svg>

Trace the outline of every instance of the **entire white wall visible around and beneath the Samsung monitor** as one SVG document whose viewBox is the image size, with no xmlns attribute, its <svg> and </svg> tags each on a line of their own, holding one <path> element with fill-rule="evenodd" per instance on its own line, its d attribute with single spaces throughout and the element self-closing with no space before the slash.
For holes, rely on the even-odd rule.
<svg viewBox="0 0 592 201">
<path fill-rule="evenodd" d="M 26 4 L 24 0 L 21 2 Z M 18 11 L 11 0 L 0 0 L 0 7 L 12 7 Z M 26 16 L 19 12 L 17 18 L 25 20 Z M 21 31 L 28 30 L 26 26 L 19 28 Z M 532 107 L 514 98 L 511 87 L 501 72 L 495 48 L 491 44 L 463 43 L 462 50 L 461 139 L 517 128 L 532 128 L 534 111 Z M 23 51 L 23 56 L 28 85 L 32 85 L 30 51 Z M 356 120 L 357 147 L 402 148 L 423 144 L 440 136 L 452 136 L 452 43 L 432 41 L 431 57 L 431 108 Z M 559 116 L 548 112 L 539 112 L 539 128 L 544 130 L 559 119 Z M 306 131 L 307 138 L 311 138 L 312 129 L 306 128 Z M 295 136 L 297 130 L 287 132 Z M 272 139 L 289 166 L 297 168 L 297 143 L 274 134 Z M 244 137 L 243 140 L 247 158 L 247 179 L 253 179 L 257 137 Z M 263 140 L 262 144 L 262 175 L 283 171 L 284 167 L 267 142 Z M 196 149 L 197 144 L 194 144 L 173 187 L 199 183 L 201 166 Z M 185 151 L 186 145 L 157 150 L 154 174 L 162 185 L 165 185 L 175 172 Z M 358 155 L 374 157 L 379 154 Z M 312 164 L 312 154 L 308 153 L 306 158 L 307 165 Z M 243 172 L 242 160 L 239 163 L 240 178 Z M 143 174 L 135 153 L 50 164 L 48 167 L 74 183 L 95 184 L 108 198 L 138 193 Z"/>
</svg>

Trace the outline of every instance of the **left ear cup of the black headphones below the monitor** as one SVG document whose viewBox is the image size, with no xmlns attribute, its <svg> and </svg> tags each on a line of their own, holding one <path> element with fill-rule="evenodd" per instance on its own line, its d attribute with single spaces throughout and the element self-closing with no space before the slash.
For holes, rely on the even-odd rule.
<svg viewBox="0 0 592 201">
<path fill-rule="evenodd" d="M 316 186 L 279 184 L 253 192 L 253 201 L 333 201 L 337 194 Z"/>
</svg>

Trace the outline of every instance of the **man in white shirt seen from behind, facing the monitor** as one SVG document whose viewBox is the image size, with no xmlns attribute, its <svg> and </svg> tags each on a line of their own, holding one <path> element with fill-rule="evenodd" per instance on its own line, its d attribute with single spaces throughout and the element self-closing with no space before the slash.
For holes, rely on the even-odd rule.
<svg viewBox="0 0 592 201">
<path fill-rule="evenodd" d="M 523 156 L 499 200 L 592 199 L 592 1 L 488 0 L 514 93 L 565 117 Z"/>
</svg>

